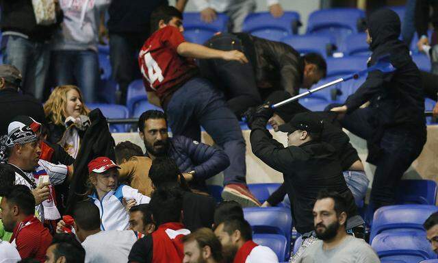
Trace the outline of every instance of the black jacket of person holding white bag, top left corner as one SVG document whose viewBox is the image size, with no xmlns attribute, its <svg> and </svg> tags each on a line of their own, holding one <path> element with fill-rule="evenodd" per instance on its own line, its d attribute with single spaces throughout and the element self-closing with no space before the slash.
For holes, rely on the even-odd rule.
<svg viewBox="0 0 438 263">
<path fill-rule="evenodd" d="M 0 6 L 2 32 L 18 32 L 38 42 L 51 39 L 63 19 L 59 9 L 55 24 L 37 25 L 31 0 L 0 0 Z"/>
</svg>

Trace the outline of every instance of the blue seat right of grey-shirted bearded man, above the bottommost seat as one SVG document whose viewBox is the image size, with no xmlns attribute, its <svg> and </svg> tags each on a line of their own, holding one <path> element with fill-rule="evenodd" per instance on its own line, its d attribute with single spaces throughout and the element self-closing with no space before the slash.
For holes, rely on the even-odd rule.
<svg viewBox="0 0 438 263">
<path fill-rule="evenodd" d="M 388 205 L 374 213 L 370 241 L 381 233 L 417 231 L 424 233 L 423 223 L 438 211 L 435 205 Z"/>
</svg>

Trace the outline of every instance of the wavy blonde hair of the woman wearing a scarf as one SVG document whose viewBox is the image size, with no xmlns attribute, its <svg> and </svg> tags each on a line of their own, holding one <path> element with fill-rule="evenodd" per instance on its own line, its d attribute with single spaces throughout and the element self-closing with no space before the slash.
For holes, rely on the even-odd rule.
<svg viewBox="0 0 438 263">
<path fill-rule="evenodd" d="M 83 103 L 82 92 L 77 86 L 63 85 L 57 86 L 51 92 L 49 99 L 44 103 L 44 115 L 50 118 L 55 125 L 64 125 L 64 115 L 66 114 L 67 92 L 76 90 L 79 94 L 79 100 L 82 103 L 81 115 L 88 115 L 90 110 Z"/>
</svg>

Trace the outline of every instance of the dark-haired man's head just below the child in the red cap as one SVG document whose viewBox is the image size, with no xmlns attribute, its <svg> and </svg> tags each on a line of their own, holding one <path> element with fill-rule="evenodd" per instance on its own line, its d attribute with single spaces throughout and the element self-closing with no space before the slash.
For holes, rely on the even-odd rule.
<svg viewBox="0 0 438 263">
<path fill-rule="evenodd" d="M 145 236 L 155 231 L 155 223 L 152 220 L 152 211 L 149 208 L 149 203 L 134 205 L 129 209 L 129 229 Z"/>
</svg>

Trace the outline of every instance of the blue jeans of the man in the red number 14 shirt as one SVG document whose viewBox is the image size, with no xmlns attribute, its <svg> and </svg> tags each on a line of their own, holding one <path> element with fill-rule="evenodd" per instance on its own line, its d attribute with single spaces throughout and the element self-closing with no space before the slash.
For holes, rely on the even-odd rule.
<svg viewBox="0 0 438 263">
<path fill-rule="evenodd" d="M 224 185 L 245 184 L 246 145 L 237 118 L 224 96 L 206 79 L 194 77 L 172 95 L 167 107 L 172 133 L 201 140 L 201 126 L 227 153 L 230 166 L 224 171 Z"/>
</svg>

